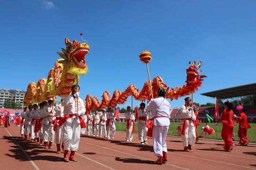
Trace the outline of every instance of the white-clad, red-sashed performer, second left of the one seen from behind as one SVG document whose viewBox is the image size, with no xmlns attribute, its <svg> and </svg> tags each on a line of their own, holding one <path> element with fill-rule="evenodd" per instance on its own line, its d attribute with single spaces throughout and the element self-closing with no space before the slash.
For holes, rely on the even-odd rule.
<svg viewBox="0 0 256 170">
<path fill-rule="evenodd" d="M 131 113 L 131 107 L 127 107 L 127 113 L 125 114 L 125 120 L 126 120 L 126 142 L 132 142 L 133 139 L 133 133 L 135 128 L 135 117 Z"/>
</svg>

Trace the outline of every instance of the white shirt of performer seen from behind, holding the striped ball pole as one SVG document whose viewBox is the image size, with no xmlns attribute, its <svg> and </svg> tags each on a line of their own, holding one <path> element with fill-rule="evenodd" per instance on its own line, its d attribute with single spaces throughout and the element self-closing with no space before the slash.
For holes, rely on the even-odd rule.
<svg viewBox="0 0 256 170">
<path fill-rule="evenodd" d="M 162 103 L 162 104 L 161 104 Z M 151 99 L 147 105 L 148 110 L 152 110 L 152 118 L 158 116 L 165 116 L 161 118 L 155 118 L 153 120 L 154 126 L 169 126 L 170 125 L 170 103 L 163 97 L 158 97 L 155 99 Z"/>
</svg>

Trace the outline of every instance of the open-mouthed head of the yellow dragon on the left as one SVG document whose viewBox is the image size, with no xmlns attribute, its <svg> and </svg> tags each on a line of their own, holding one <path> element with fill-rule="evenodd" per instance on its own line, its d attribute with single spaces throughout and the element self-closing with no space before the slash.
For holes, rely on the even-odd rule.
<svg viewBox="0 0 256 170">
<path fill-rule="evenodd" d="M 63 53 L 57 52 L 61 58 L 59 62 L 62 64 L 68 64 L 68 66 L 76 67 L 79 69 L 79 72 L 87 71 L 87 64 L 85 60 L 85 55 L 89 53 L 90 46 L 87 43 L 79 43 L 76 40 L 73 42 L 69 41 L 68 38 L 65 38 L 66 49 L 61 48 Z M 84 70 L 84 71 L 83 71 Z"/>
</svg>

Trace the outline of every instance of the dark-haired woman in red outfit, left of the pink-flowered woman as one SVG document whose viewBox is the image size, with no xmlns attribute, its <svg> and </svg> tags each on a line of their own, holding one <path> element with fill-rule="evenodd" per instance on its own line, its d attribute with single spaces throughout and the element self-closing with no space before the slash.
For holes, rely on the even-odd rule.
<svg viewBox="0 0 256 170">
<path fill-rule="evenodd" d="M 223 149 L 225 151 L 231 151 L 233 149 L 234 142 L 232 141 L 232 135 L 233 135 L 233 129 L 234 129 L 234 113 L 231 110 L 232 103 L 229 103 L 229 101 L 224 103 L 225 110 L 222 112 L 221 119 L 219 119 L 218 123 L 222 123 L 222 131 L 221 131 L 221 137 L 224 141 Z M 216 126 L 218 125 L 216 123 Z"/>
</svg>

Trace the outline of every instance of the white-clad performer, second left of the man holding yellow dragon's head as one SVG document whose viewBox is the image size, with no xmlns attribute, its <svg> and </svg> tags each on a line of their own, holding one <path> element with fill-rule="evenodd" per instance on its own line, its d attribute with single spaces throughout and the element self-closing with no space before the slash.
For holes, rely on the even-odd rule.
<svg viewBox="0 0 256 170">
<path fill-rule="evenodd" d="M 56 112 L 53 110 L 53 99 L 48 100 L 48 105 L 44 106 L 42 110 L 42 120 L 43 131 L 44 131 L 44 146 L 45 149 L 53 149 L 52 142 L 54 141 L 54 130 L 53 130 L 53 120 L 56 119 Z M 49 141 L 49 145 L 48 145 Z"/>
</svg>

